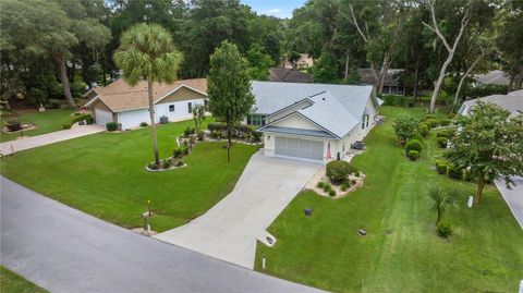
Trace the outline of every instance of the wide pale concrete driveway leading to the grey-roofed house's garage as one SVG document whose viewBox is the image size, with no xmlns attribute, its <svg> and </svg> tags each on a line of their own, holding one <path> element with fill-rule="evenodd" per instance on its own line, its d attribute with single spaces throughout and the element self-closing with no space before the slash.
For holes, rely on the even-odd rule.
<svg viewBox="0 0 523 293">
<path fill-rule="evenodd" d="M 258 151 L 221 202 L 188 224 L 155 237 L 253 269 L 256 240 L 266 239 L 265 230 L 320 168 Z"/>
</svg>

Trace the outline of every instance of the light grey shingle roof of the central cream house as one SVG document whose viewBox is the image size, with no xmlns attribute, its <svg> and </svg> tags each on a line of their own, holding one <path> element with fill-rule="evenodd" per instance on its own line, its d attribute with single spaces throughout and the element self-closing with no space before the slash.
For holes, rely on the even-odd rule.
<svg viewBox="0 0 523 293">
<path fill-rule="evenodd" d="M 271 114 L 300 101 L 311 100 L 312 103 L 287 117 L 300 115 L 309 120 L 335 138 L 344 136 L 360 123 L 362 115 L 368 111 L 366 106 L 369 99 L 376 107 L 379 105 L 374 97 L 373 86 L 253 82 L 252 87 L 256 99 L 255 113 Z M 269 131 L 287 117 L 259 130 Z"/>
</svg>

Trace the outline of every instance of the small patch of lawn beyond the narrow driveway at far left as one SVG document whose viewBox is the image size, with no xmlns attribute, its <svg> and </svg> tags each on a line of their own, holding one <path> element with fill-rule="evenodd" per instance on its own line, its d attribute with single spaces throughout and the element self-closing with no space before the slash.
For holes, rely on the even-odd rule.
<svg viewBox="0 0 523 293">
<path fill-rule="evenodd" d="M 24 136 L 35 136 L 38 134 L 61 131 L 62 125 L 71 121 L 71 114 L 74 110 L 60 109 L 60 110 L 46 110 L 40 113 L 37 111 L 23 113 L 21 115 L 14 115 L 5 118 L 5 122 L 16 120 L 21 123 L 31 123 L 36 126 L 35 130 L 24 131 Z M 0 122 L 0 127 L 3 127 L 3 122 Z M 13 134 L 5 134 L 1 132 L 0 142 L 13 141 L 20 136 L 20 132 Z"/>
</svg>

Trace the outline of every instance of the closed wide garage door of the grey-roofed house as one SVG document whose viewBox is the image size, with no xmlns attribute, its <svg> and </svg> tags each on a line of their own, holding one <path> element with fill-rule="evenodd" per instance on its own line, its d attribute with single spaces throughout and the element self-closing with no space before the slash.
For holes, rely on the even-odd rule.
<svg viewBox="0 0 523 293">
<path fill-rule="evenodd" d="M 324 157 L 324 142 L 277 136 L 275 150 L 276 156 L 320 161 Z"/>
</svg>

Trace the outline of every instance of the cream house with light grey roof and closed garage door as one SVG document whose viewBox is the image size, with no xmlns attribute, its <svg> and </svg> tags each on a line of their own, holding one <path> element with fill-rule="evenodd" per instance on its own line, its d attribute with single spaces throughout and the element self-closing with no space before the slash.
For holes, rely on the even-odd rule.
<svg viewBox="0 0 523 293">
<path fill-rule="evenodd" d="M 375 124 L 373 86 L 253 82 L 246 123 L 264 133 L 264 154 L 312 161 L 343 158 Z"/>
</svg>

